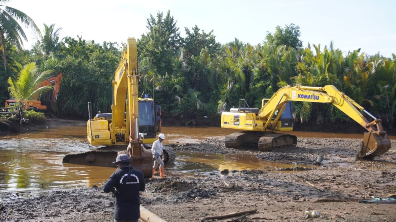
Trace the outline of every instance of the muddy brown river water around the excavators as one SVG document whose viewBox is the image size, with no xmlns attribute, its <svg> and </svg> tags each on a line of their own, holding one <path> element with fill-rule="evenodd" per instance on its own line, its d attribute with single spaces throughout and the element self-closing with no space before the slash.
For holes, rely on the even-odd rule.
<svg viewBox="0 0 396 222">
<path fill-rule="evenodd" d="M 236 130 L 217 127 L 162 127 L 164 145 L 194 143 L 201 139 L 222 139 Z M 362 134 L 288 132 L 297 137 L 362 138 Z M 396 138 L 396 137 L 395 137 Z M 391 139 L 395 139 L 391 138 Z M 86 139 L 85 126 L 49 128 L 27 134 L 0 137 L 0 192 L 72 188 L 103 184 L 114 168 L 63 163 L 63 156 L 97 147 Z M 223 169 L 268 169 L 279 167 L 255 156 L 176 152 L 166 172 L 209 174 Z M 294 165 L 293 165 L 294 166 Z M 293 167 L 284 165 L 282 167 Z"/>
</svg>

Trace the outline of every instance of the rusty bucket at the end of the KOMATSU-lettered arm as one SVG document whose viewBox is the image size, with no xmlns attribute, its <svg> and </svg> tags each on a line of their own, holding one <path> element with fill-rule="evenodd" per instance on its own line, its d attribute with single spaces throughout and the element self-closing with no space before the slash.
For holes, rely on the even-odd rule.
<svg viewBox="0 0 396 222">
<path fill-rule="evenodd" d="M 390 149 L 390 140 L 388 134 L 378 135 L 373 132 L 364 133 L 362 149 L 358 154 L 359 157 L 372 157 L 384 154 Z"/>
</svg>

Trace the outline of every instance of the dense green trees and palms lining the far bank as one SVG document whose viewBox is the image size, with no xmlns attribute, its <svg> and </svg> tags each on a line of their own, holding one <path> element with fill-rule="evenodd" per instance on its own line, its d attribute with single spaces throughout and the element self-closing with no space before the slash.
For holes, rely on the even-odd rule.
<svg viewBox="0 0 396 222">
<path fill-rule="evenodd" d="M 382 119 L 386 127 L 395 126 L 395 55 L 366 55 L 360 49 L 343 53 L 332 43 L 303 48 L 295 24 L 277 26 L 257 45 L 238 39 L 222 45 L 212 32 L 206 33 L 198 26 L 185 28 L 182 38 L 169 11 L 166 15 L 150 15 L 147 27 L 146 34 L 135 36 L 141 75 L 139 93 L 154 96 L 165 115 L 215 117 L 237 106 L 240 98 L 251 107 L 260 107 L 262 98 L 270 98 L 282 86 L 335 85 Z M 7 66 L 0 67 L 0 101 L 10 97 L 6 79 L 16 75 L 18 64 L 36 62 L 40 71 L 63 73 L 55 114 L 88 118 L 89 101 L 94 113 L 110 112 L 111 80 L 125 44 L 95 43 L 81 37 L 59 40 L 58 31 L 55 25 L 44 24 L 36 45 L 29 51 L 18 51 L 12 42 L 6 42 Z M 352 121 L 329 104 L 294 106 L 295 119 L 302 123 Z"/>
</svg>

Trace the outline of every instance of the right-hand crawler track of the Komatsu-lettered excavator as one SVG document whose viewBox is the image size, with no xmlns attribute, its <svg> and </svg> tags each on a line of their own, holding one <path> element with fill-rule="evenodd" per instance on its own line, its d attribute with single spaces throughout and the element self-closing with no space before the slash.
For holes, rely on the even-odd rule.
<svg viewBox="0 0 396 222">
<path fill-rule="evenodd" d="M 259 151 L 272 151 L 282 147 L 296 147 L 297 136 L 290 134 L 265 134 L 259 139 Z"/>
</svg>

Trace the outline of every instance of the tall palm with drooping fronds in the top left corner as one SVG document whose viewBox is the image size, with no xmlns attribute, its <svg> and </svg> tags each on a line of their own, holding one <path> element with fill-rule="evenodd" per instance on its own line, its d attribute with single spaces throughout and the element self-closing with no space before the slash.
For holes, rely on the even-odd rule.
<svg viewBox="0 0 396 222">
<path fill-rule="evenodd" d="M 8 41 L 17 49 L 22 50 L 22 40 L 27 41 L 25 32 L 23 32 L 17 20 L 21 21 L 21 24 L 31 27 L 34 33 L 40 33 L 40 30 L 29 16 L 18 9 L 1 4 L 5 2 L 10 2 L 10 0 L 0 0 L 0 51 L 2 51 L 4 68 L 7 65 L 5 42 Z"/>
</svg>

